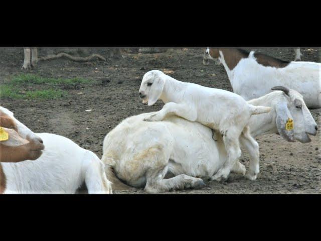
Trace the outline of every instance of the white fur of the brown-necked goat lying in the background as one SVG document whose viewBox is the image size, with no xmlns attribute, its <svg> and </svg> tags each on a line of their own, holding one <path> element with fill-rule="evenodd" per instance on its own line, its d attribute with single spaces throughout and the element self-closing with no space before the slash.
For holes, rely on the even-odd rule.
<svg viewBox="0 0 321 241">
<path fill-rule="evenodd" d="M 292 61 L 283 68 L 263 66 L 257 63 L 254 51 L 248 58 L 242 58 L 232 70 L 227 66 L 222 51 L 218 60 L 227 72 L 234 93 L 245 100 L 263 96 L 271 92 L 273 86 L 284 86 L 302 94 L 307 107 L 321 108 L 320 63 Z"/>
</svg>

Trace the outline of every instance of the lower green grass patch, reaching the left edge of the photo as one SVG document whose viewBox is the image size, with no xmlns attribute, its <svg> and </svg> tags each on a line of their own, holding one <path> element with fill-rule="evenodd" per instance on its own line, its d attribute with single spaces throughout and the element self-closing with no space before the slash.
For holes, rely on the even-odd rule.
<svg viewBox="0 0 321 241">
<path fill-rule="evenodd" d="M 43 89 L 21 91 L 11 85 L 0 85 L 0 98 L 9 99 L 57 99 L 68 96 L 68 92 L 61 89 Z"/>
</svg>

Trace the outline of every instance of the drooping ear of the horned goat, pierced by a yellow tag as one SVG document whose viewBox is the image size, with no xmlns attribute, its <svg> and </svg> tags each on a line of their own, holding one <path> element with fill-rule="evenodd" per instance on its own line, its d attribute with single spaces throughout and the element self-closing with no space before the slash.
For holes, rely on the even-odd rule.
<svg viewBox="0 0 321 241">
<path fill-rule="evenodd" d="M 292 123 L 292 128 L 287 127 L 289 122 Z M 293 118 L 286 103 L 280 103 L 276 106 L 276 128 L 286 141 L 295 142 Z"/>
</svg>

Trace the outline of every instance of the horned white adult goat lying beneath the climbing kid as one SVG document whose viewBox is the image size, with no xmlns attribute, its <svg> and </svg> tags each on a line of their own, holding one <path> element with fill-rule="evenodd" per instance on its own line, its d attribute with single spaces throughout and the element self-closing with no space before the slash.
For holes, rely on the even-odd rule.
<svg viewBox="0 0 321 241">
<path fill-rule="evenodd" d="M 295 90 L 280 89 L 285 92 L 274 91 L 248 101 L 271 107 L 269 113 L 251 117 L 251 135 L 280 133 L 286 140 L 294 136 L 302 143 L 309 142 L 308 134 L 316 135 L 317 128 L 302 96 Z M 212 178 L 227 160 L 221 136 L 215 142 L 210 128 L 177 116 L 144 122 L 150 114 L 126 118 L 104 139 L 102 161 L 108 164 L 113 190 L 126 188 L 123 183 L 145 187 L 150 193 L 204 186 L 201 178 Z M 286 130 L 288 118 L 293 119 L 292 131 Z M 242 138 L 240 142 L 247 145 Z M 258 170 L 258 165 L 250 160 L 249 168 Z M 237 162 L 232 172 L 244 175 L 245 167 Z M 164 179 L 170 173 L 175 177 Z M 247 177 L 254 180 L 256 175 Z"/>
</svg>

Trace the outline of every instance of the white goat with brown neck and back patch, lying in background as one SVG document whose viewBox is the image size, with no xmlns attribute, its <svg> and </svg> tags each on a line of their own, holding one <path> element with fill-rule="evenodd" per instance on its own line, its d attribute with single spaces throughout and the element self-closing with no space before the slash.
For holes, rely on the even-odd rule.
<svg viewBox="0 0 321 241">
<path fill-rule="evenodd" d="M 216 59 L 223 64 L 236 94 L 245 100 L 271 92 L 273 86 L 284 86 L 300 92 L 309 108 L 321 108 L 321 64 L 287 62 L 242 49 L 206 50 L 203 63 Z"/>
</svg>

